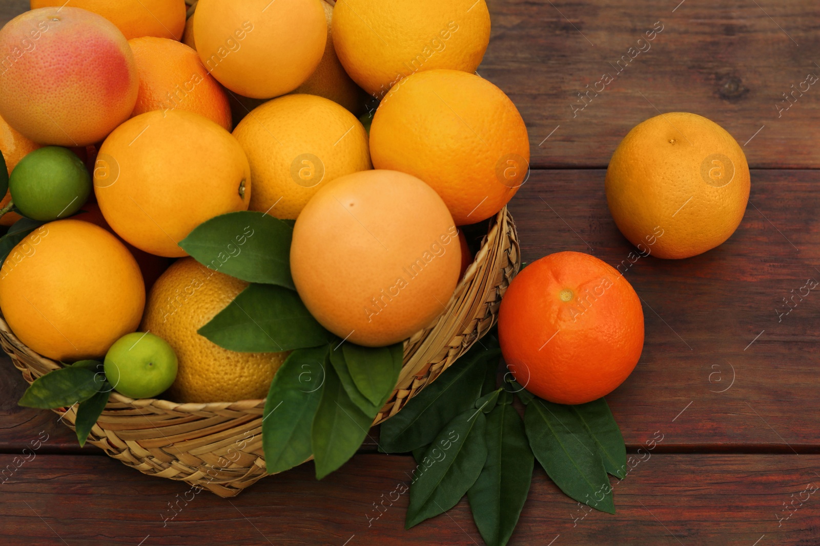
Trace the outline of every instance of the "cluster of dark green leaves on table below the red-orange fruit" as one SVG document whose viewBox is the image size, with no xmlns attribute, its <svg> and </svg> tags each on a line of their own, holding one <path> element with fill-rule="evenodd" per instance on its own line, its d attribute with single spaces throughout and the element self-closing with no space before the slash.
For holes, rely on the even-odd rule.
<svg viewBox="0 0 820 546">
<path fill-rule="evenodd" d="M 381 451 L 416 458 L 408 529 L 467 494 L 486 544 L 507 544 L 535 458 L 572 499 L 615 512 L 607 473 L 626 476 L 626 447 L 606 401 L 553 404 L 515 381 L 496 389 L 499 356 L 485 337 L 381 426 Z M 526 405 L 523 420 L 513 393 Z"/>
</svg>

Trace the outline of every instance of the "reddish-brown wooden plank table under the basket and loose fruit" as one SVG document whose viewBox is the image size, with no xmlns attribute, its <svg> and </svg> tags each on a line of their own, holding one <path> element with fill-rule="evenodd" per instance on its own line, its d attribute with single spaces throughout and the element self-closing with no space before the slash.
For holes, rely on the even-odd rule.
<svg viewBox="0 0 820 546">
<path fill-rule="evenodd" d="M 489 2 L 479 72 L 512 97 L 531 138 L 534 170 L 510 204 L 525 261 L 580 250 L 629 264 L 604 173 L 617 142 L 659 111 L 722 124 L 753 168 L 729 241 L 626 268 L 646 345 L 608 401 L 631 452 L 656 431 L 663 441 L 615 487 L 617 513 L 582 518 L 539 469 L 511 544 L 820 544 L 820 495 L 796 500 L 820 486 L 820 295 L 780 314 L 820 280 L 820 88 L 783 95 L 820 74 L 820 4 L 678 2 Z M 27 5 L 3 0 L 0 21 Z M 649 50 L 616 74 L 654 27 Z M 581 102 L 604 73 L 617 77 Z M 372 444 L 324 481 L 307 464 L 235 499 L 200 493 L 167 520 L 187 485 L 80 449 L 52 413 L 16 406 L 24 387 L 0 363 L 0 467 L 48 435 L 0 485 L 0 544 L 481 544 L 466 501 L 409 531 L 406 495 L 376 512 L 413 463 Z"/>
</svg>

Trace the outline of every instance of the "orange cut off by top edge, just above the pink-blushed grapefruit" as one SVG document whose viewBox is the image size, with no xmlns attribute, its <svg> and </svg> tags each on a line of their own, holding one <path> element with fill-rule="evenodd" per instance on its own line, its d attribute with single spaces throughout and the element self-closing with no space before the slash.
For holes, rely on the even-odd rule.
<svg viewBox="0 0 820 546">
<path fill-rule="evenodd" d="M 31 0 L 31 9 L 46 6 L 81 7 L 110 20 L 126 39 L 182 37 L 185 0 Z"/>
</svg>

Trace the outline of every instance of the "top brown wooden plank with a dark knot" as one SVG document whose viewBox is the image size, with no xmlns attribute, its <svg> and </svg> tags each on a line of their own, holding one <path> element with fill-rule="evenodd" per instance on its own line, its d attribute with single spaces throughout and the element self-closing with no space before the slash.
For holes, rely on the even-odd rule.
<svg viewBox="0 0 820 546">
<path fill-rule="evenodd" d="M 488 4 L 493 30 L 478 71 L 522 112 L 535 167 L 605 167 L 629 129 L 659 111 L 704 115 L 741 145 L 765 125 L 744 147 L 750 165 L 820 166 L 811 144 L 820 139 L 820 81 L 803 83 L 820 76 L 817 2 Z M 787 102 L 783 93 L 801 83 L 804 93 Z M 597 96 L 582 100 L 590 88 Z"/>
</svg>

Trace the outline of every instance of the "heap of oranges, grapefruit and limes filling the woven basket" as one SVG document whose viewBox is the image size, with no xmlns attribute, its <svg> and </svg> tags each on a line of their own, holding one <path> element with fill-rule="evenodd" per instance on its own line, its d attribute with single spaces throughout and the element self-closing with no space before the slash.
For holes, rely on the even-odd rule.
<svg viewBox="0 0 820 546">
<path fill-rule="evenodd" d="M 400 344 L 526 180 L 484 0 L 31 7 L 0 30 L 0 309 L 123 395 L 260 399 L 294 350 Z"/>
</svg>

